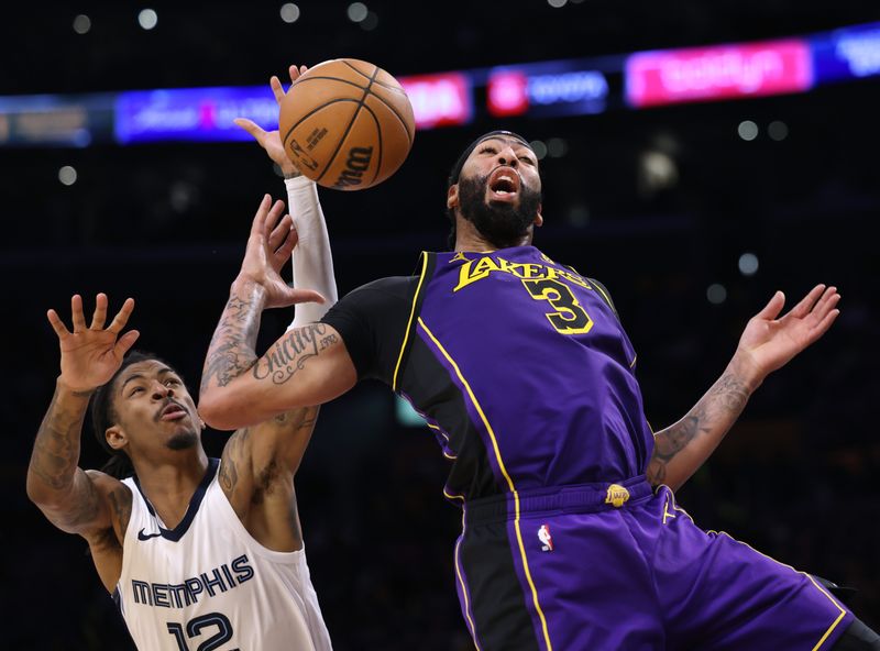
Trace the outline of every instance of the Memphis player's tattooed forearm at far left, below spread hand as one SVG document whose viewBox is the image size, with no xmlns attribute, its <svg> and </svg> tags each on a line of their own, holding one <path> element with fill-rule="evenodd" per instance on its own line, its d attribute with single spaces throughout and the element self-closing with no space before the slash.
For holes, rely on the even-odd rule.
<svg viewBox="0 0 880 651">
<path fill-rule="evenodd" d="M 34 441 L 29 490 L 61 492 L 73 484 L 89 395 L 56 388 Z"/>
</svg>

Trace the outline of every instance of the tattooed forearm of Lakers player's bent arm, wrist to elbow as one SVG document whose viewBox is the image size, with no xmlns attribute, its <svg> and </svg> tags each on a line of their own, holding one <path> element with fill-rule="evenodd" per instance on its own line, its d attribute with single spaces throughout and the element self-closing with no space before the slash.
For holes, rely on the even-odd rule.
<svg viewBox="0 0 880 651">
<path fill-rule="evenodd" d="M 223 387 L 253 366 L 262 313 L 257 291 L 253 284 L 233 286 L 232 296 L 223 309 L 205 358 L 202 391 L 208 388 L 211 378 Z"/>
</svg>

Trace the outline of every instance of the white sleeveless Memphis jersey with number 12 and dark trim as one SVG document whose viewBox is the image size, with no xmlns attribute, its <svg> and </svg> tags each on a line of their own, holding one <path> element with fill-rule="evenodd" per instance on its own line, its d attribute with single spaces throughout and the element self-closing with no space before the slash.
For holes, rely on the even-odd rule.
<svg viewBox="0 0 880 651">
<path fill-rule="evenodd" d="M 166 529 L 124 479 L 132 508 L 113 594 L 142 651 L 330 651 L 305 550 L 254 540 L 217 481 L 219 460 L 184 519 Z"/>
</svg>

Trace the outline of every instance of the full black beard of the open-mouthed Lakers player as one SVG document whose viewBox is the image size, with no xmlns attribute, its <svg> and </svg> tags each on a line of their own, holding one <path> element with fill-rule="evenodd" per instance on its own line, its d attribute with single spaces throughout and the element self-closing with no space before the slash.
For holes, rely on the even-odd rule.
<svg viewBox="0 0 880 651">
<path fill-rule="evenodd" d="M 461 214 L 498 249 L 521 244 L 522 238 L 528 234 L 529 227 L 538 216 L 541 192 L 524 185 L 519 188 L 518 205 L 486 202 L 487 187 L 488 176 L 459 180 Z"/>
</svg>

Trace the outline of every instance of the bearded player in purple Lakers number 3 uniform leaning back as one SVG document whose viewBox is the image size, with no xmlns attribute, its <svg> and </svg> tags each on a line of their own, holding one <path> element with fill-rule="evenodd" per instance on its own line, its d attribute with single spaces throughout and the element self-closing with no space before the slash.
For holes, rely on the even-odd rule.
<svg viewBox="0 0 880 651">
<path fill-rule="evenodd" d="M 528 141 L 487 133 L 449 178 L 450 253 L 370 283 L 263 355 L 264 309 L 296 299 L 263 261 L 280 207 L 265 197 L 208 350 L 202 417 L 219 429 L 331 400 L 378 378 L 425 417 L 463 509 L 462 614 L 482 651 L 880 649 L 814 577 L 676 504 L 771 372 L 822 336 L 839 295 L 777 293 L 721 378 L 651 432 L 636 354 L 608 291 L 531 245 L 541 177 Z"/>
</svg>

